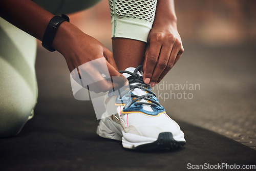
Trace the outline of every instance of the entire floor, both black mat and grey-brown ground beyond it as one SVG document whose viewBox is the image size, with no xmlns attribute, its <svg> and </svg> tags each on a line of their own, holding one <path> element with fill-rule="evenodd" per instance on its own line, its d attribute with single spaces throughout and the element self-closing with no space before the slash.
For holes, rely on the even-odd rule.
<svg viewBox="0 0 256 171">
<path fill-rule="evenodd" d="M 188 163 L 255 165 L 256 151 L 248 143 L 245 146 L 225 137 L 238 137 L 238 141 L 247 137 L 249 144 L 256 139 L 254 48 L 187 47 L 165 81 L 199 83 L 200 90 L 187 91 L 194 95 L 191 100 L 160 99 L 185 133 L 187 144 L 181 149 L 127 151 L 118 141 L 98 137 L 91 102 L 73 98 L 65 60 L 39 48 L 35 116 L 17 137 L 0 141 L 0 170 L 186 170 Z"/>
</svg>

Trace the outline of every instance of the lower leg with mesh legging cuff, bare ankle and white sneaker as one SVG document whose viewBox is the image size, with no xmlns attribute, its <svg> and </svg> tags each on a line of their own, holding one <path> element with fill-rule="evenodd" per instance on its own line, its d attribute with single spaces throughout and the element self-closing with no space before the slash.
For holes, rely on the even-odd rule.
<svg viewBox="0 0 256 171">
<path fill-rule="evenodd" d="M 154 2 L 156 3 L 156 1 L 145 3 L 145 1 L 114 0 L 113 5 L 110 1 L 111 9 L 114 6 L 111 11 L 114 57 L 118 68 L 125 70 L 122 73 L 129 80 L 131 94 L 121 93 L 120 96 L 109 97 L 106 108 L 115 106 L 117 112 L 106 113 L 112 116 L 101 119 L 97 129 L 99 136 L 122 141 L 124 148 L 146 151 L 179 148 L 186 143 L 179 125 L 165 113 L 150 85 L 144 83 L 143 76 L 139 72 L 141 67 L 138 65 L 144 60 L 145 42 L 150 31 L 145 29 L 147 28 L 145 26 L 148 28 L 152 26 L 152 23 L 147 23 L 146 19 L 151 16 L 154 18 L 155 13 L 147 10 L 152 9 L 153 6 L 150 4 Z M 118 7 L 118 3 L 122 7 Z M 139 9 L 143 9 L 143 17 L 138 18 L 140 20 L 136 23 L 136 17 L 140 16 Z M 133 18 L 134 12 L 136 15 Z M 143 22 L 148 25 L 143 25 Z M 129 98 L 131 100 L 127 100 Z"/>
</svg>

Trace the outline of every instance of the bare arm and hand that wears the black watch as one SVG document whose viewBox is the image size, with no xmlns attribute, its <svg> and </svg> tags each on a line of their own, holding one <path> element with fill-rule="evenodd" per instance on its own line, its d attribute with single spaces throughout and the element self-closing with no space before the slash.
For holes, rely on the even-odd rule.
<svg viewBox="0 0 256 171">
<path fill-rule="evenodd" d="M 47 25 L 54 15 L 31 0 L 1 0 L 0 16 L 14 26 L 42 40 Z M 112 52 L 98 40 L 83 33 L 71 23 L 63 22 L 59 26 L 52 46 L 65 57 L 70 71 L 88 61 L 105 57 L 110 76 L 121 76 L 116 70 Z M 102 77 L 97 72 L 97 68 L 84 70 L 86 70 L 85 72 L 94 71 L 89 79 L 95 79 L 97 76 Z M 105 80 L 101 81 L 99 86 L 103 91 L 112 89 L 112 84 Z"/>
</svg>

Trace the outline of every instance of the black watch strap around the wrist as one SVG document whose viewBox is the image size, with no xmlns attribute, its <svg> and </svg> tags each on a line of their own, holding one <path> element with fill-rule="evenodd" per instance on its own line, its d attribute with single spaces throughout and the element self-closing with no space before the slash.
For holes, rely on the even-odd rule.
<svg viewBox="0 0 256 171">
<path fill-rule="evenodd" d="M 55 49 L 52 48 L 52 42 L 59 25 L 65 21 L 69 22 L 69 17 L 65 14 L 62 14 L 61 16 L 55 15 L 52 17 L 46 28 L 44 37 L 42 38 L 42 47 L 46 48 L 50 52 L 55 51 Z"/>
</svg>

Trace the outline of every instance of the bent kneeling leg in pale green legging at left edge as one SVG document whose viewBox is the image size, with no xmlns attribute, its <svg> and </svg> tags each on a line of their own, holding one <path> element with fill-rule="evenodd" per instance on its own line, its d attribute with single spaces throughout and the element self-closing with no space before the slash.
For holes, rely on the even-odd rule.
<svg viewBox="0 0 256 171">
<path fill-rule="evenodd" d="M 37 99 L 35 38 L 0 18 L 0 138 L 15 136 Z"/>
</svg>

